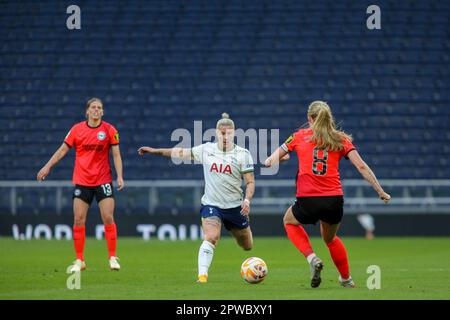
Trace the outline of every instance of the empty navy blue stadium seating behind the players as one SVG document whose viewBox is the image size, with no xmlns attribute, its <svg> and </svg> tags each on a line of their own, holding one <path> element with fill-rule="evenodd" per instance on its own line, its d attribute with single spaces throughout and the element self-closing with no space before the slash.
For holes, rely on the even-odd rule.
<svg viewBox="0 0 450 320">
<path fill-rule="evenodd" d="M 366 28 L 369 1 L 78 4 L 71 31 L 67 2 L 2 1 L 0 180 L 34 179 L 92 96 L 120 131 L 126 179 L 201 178 L 136 153 L 176 144 L 194 120 L 212 128 L 228 112 L 284 140 L 318 99 L 380 178 L 450 178 L 448 2 L 377 1 L 381 30 Z M 50 178 L 70 179 L 72 164 L 73 152 Z M 294 159 L 264 178 L 295 172 Z"/>
</svg>

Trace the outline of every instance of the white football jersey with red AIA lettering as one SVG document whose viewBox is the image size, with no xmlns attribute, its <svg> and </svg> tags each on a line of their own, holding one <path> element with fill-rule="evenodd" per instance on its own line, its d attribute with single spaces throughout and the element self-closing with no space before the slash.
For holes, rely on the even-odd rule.
<svg viewBox="0 0 450 320">
<path fill-rule="evenodd" d="M 242 204 L 242 176 L 253 172 L 253 158 L 247 149 L 234 145 L 222 151 L 217 143 L 207 142 L 191 149 L 195 161 L 203 164 L 205 194 L 203 205 L 221 209 L 236 208 Z"/>
</svg>

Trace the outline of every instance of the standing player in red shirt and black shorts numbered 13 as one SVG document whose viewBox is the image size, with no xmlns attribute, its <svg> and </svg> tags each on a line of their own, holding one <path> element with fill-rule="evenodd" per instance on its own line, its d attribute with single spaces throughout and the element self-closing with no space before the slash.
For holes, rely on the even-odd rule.
<svg viewBox="0 0 450 320">
<path fill-rule="evenodd" d="M 102 116 L 102 101 L 98 98 L 90 99 L 86 103 L 87 121 L 79 122 L 70 129 L 64 143 L 37 174 L 37 180 L 43 181 L 67 152 L 71 148 L 75 149 L 75 168 L 72 182 L 75 185 L 73 192 L 75 216 L 73 241 L 76 260 L 70 269 L 71 272 L 86 268 L 83 254 L 86 238 L 85 224 L 87 212 L 94 196 L 104 223 L 110 269 L 120 269 L 116 257 L 117 228 L 113 216 L 115 203 L 109 150 L 112 150 L 114 167 L 117 173 L 117 190 L 121 190 L 124 186 L 122 158 L 119 149 L 119 133 L 112 125 L 102 121 Z"/>
</svg>

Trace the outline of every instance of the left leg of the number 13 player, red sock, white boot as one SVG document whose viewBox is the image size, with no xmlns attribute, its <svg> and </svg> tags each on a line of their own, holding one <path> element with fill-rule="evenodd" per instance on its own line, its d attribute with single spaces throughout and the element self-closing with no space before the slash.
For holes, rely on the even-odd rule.
<svg viewBox="0 0 450 320">
<path fill-rule="evenodd" d="M 89 210 L 89 204 L 79 198 L 73 199 L 73 244 L 76 253 L 76 260 L 74 261 L 70 272 L 79 272 L 86 269 L 84 262 L 84 242 L 86 240 L 86 217 Z"/>
</svg>

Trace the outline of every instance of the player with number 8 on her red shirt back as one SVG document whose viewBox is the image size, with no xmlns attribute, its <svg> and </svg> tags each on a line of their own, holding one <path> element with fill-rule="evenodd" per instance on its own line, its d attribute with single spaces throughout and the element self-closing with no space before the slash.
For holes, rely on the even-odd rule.
<svg viewBox="0 0 450 320">
<path fill-rule="evenodd" d="M 323 101 L 314 101 L 308 108 L 309 128 L 290 136 L 267 160 L 271 166 L 288 152 L 298 156 L 297 201 L 284 215 L 284 226 L 291 242 L 306 257 L 311 271 L 311 287 L 321 282 L 322 261 L 314 253 L 302 224 L 320 221 L 320 232 L 331 258 L 339 271 L 343 287 L 355 286 L 341 239 L 336 236 L 343 216 L 344 197 L 339 176 L 339 161 L 350 159 L 361 175 L 372 185 L 385 203 L 391 199 L 384 192 L 375 174 L 361 159 L 352 138 L 336 129 L 331 109 Z"/>
</svg>

